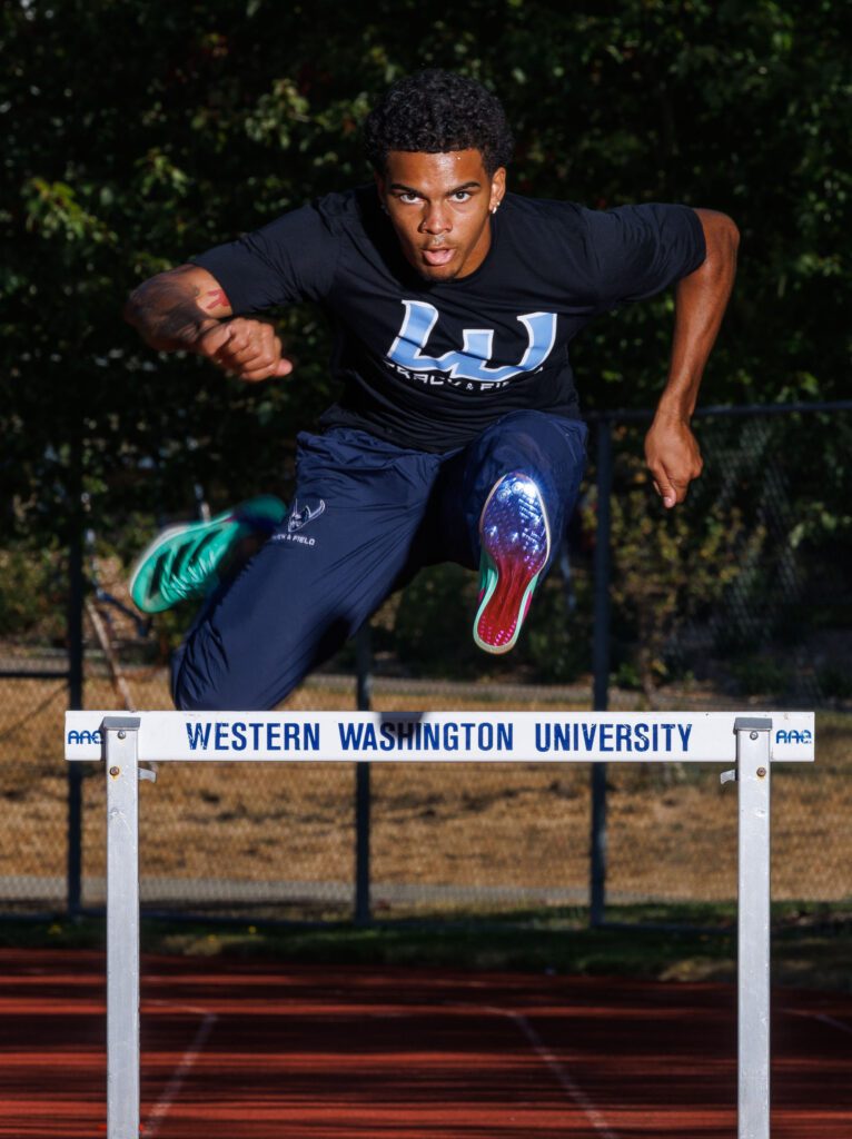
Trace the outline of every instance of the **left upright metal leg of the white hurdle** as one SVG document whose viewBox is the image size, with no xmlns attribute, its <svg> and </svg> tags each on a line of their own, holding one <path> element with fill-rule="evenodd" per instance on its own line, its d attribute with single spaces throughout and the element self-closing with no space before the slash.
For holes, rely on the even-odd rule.
<svg viewBox="0 0 852 1139">
<path fill-rule="evenodd" d="M 108 716 L 107 1139 L 139 1139 L 139 719 Z"/>
</svg>

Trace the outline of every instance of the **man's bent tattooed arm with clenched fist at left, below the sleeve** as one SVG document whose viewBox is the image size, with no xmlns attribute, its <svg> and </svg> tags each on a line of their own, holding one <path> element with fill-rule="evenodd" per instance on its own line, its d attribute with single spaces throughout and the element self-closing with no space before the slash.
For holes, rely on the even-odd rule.
<svg viewBox="0 0 852 1139">
<path fill-rule="evenodd" d="M 224 289 L 198 265 L 151 277 L 124 308 L 124 319 L 159 352 L 196 352 L 249 383 L 293 371 L 271 325 L 231 317 Z"/>
</svg>

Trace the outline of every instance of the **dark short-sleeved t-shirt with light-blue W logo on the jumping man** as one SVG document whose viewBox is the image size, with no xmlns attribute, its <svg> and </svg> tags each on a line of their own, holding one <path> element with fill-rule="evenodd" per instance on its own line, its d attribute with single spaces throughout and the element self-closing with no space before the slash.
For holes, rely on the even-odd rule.
<svg viewBox="0 0 852 1139">
<path fill-rule="evenodd" d="M 372 186 L 329 194 L 196 263 L 236 314 L 300 301 L 329 314 L 343 394 L 323 426 L 443 452 L 518 409 L 576 418 L 574 336 L 705 257 L 687 206 L 595 211 L 507 194 L 490 222 L 480 268 L 437 284 L 404 260 Z"/>
</svg>

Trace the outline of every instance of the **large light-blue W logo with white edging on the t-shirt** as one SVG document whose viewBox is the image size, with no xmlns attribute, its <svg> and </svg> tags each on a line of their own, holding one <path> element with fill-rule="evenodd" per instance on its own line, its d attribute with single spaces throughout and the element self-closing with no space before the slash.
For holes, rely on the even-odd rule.
<svg viewBox="0 0 852 1139">
<path fill-rule="evenodd" d="M 555 312 L 526 312 L 517 319 L 526 329 L 526 351 L 517 364 L 491 366 L 493 328 L 466 328 L 460 352 L 440 357 L 426 353 L 426 344 L 437 322 L 437 309 L 426 301 L 403 301 L 405 317 L 388 360 L 410 371 L 443 371 L 451 379 L 500 384 L 523 372 L 535 371 L 547 360 L 556 342 Z"/>
</svg>

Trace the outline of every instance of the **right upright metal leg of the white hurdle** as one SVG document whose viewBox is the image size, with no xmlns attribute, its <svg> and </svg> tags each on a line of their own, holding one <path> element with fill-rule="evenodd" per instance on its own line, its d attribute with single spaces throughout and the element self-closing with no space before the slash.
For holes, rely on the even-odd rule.
<svg viewBox="0 0 852 1139">
<path fill-rule="evenodd" d="M 770 740 L 772 721 L 738 718 L 738 1131 L 769 1139 Z"/>
</svg>

